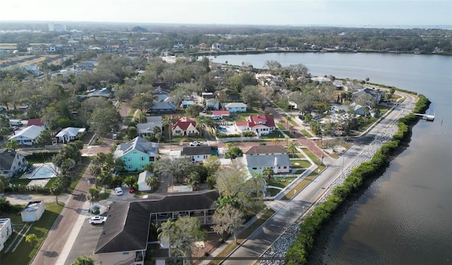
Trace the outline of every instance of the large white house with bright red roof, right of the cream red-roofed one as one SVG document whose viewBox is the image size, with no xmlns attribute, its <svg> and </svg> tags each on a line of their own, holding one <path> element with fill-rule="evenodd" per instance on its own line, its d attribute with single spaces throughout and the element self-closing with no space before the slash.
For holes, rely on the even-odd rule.
<svg viewBox="0 0 452 265">
<path fill-rule="evenodd" d="M 239 132 L 254 132 L 256 135 L 269 135 L 275 130 L 273 115 L 251 115 L 246 121 L 236 121 L 235 129 Z"/>
</svg>

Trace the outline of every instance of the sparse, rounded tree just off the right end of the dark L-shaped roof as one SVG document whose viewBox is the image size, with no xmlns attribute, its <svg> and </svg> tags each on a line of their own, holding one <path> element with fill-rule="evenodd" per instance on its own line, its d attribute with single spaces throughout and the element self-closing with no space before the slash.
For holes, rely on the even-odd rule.
<svg viewBox="0 0 452 265">
<path fill-rule="evenodd" d="M 213 221 L 215 223 L 213 230 L 219 235 L 222 233 L 233 235 L 234 244 L 237 245 L 237 232 L 245 221 L 242 211 L 227 204 L 225 207 L 220 207 L 215 211 Z"/>
</svg>

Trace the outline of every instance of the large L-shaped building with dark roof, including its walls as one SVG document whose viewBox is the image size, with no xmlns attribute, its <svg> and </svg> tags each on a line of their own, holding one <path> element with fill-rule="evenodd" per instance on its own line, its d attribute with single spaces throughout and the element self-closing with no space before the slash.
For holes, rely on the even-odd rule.
<svg viewBox="0 0 452 265">
<path fill-rule="evenodd" d="M 218 190 L 153 194 L 133 202 L 113 202 L 94 254 L 99 264 L 143 265 L 148 249 L 150 222 L 160 226 L 169 218 L 196 217 L 213 223 Z"/>
</svg>

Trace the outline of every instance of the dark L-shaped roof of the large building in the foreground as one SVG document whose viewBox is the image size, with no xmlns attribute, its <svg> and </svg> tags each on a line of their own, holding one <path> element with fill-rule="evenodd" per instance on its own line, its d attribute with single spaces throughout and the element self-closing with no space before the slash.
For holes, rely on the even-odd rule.
<svg viewBox="0 0 452 265">
<path fill-rule="evenodd" d="M 150 214 L 215 209 L 218 190 L 148 195 L 134 202 L 113 202 L 95 254 L 146 249 Z"/>
</svg>

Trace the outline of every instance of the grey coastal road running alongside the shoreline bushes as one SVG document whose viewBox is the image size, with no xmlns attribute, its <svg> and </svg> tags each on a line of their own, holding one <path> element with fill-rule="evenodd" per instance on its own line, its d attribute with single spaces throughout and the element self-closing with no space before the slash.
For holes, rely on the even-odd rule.
<svg viewBox="0 0 452 265">
<path fill-rule="evenodd" d="M 386 116 L 378 125 L 369 131 L 369 139 L 378 137 L 379 132 L 389 126 L 395 126 L 396 121 L 402 113 L 409 113 L 414 106 L 415 97 L 403 93 L 405 101 L 396 106 L 391 113 Z M 342 156 L 342 159 L 328 160 L 328 168 L 323 171 L 314 181 L 299 192 L 289 202 L 274 201 L 270 202 L 272 209 L 279 209 L 270 217 L 266 223 L 254 231 L 242 245 L 239 245 L 221 264 L 254 264 L 266 252 L 266 250 L 275 242 L 275 240 L 284 233 L 290 224 L 297 221 L 309 207 L 311 207 L 323 195 L 331 183 L 337 179 L 345 168 L 350 166 L 362 152 L 367 148 L 364 144 L 354 144 Z"/>
</svg>

